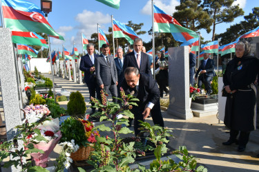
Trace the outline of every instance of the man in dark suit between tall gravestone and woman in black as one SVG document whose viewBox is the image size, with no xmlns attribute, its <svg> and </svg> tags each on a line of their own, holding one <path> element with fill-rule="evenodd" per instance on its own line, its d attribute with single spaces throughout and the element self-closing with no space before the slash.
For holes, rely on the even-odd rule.
<svg viewBox="0 0 259 172">
<path fill-rule="evenodd" d="M 195 74 L 195 80 L 197 80 L 198 74 L 200 73 L 198 79 L 198 87 L 202 87 L 202 83 L 204 83 L 205 90 L 208 95 L 211 94 L 211 80 L 215 74 L 214 72 L 214 61 L 209 58 L 208 53 L 204 53 L 204 60 L 201 61 L 200 67 Z"/>
</svg>

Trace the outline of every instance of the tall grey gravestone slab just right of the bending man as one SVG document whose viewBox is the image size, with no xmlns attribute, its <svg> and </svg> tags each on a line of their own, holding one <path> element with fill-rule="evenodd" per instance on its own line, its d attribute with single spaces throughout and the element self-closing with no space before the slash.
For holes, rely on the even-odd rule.
<svg viewBox="0 0 259 172">
<path fill-rule="evenodd" d="M 182 119 L 193 118 L 189 88 L 189 47 L 169 47 L 169 109 L 167 113 Z"/>
</svg>

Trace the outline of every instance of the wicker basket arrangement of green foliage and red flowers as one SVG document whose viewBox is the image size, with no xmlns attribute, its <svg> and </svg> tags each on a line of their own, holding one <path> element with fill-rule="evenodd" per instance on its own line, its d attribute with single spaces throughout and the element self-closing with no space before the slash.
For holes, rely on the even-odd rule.
<svg viewBox="0 0 259 172">
<path fill-rule="evenodd" d="M 96 142 L 95 137 L 99 137 L 99 132 L 93 126 L 93 122 L 70 117 L 66 119 L 60 127 L 62 138 L 60 142 L 70 142 L 75 140 L 79 149 L 71 153 L 70 158 L 73 160 L 86 160 L 93 151 L 93 144 Z"/>
</svg>

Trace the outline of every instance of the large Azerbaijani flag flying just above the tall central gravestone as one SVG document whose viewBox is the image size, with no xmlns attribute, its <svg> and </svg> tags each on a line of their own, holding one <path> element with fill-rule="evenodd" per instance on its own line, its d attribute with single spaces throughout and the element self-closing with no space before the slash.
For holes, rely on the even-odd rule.
<svg viewBox="0 0 259 172">
<path fill-rule="evenodd" d="M 171 32 L 175 41 L 195 42 L 195 38 L 199 37 L 196 32 L 186 29 L 178 23 L 173 17 L 166 14 L 160 8 L 154 5 L 154 32 Z"/>
</svg>

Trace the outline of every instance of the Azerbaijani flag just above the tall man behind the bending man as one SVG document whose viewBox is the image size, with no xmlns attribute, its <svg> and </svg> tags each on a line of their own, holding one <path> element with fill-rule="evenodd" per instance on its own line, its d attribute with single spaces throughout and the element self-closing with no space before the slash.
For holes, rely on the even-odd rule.
<svg viewBox="0 0 259 172">
<path fill-rule="evenodd" d="M 134 39 L 138 38 L 133 28 L 115 21 L 115 19 L 113 19 L 113 35 L 115 38 L 125 38 L 131 45 L 133 45 Z"/>
</svg>

